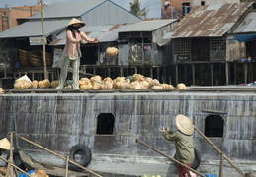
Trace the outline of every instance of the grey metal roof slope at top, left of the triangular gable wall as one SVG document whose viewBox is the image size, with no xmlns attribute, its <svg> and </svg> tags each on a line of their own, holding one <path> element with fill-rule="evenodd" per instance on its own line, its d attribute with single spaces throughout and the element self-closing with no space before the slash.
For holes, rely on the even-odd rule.
<svg viewBox="0 0 256 177">
<path fill-rule="evenodd" d="M 86 12 L 99 6 L 106 0 L 87 0 L 81 2 L 57 2 L 46 7 L 44 11 L 44 18 L 73 18 L 80 17 Z M 37 13 L 27 19 L 39 19 L 41 13 Z"/>
</svg>

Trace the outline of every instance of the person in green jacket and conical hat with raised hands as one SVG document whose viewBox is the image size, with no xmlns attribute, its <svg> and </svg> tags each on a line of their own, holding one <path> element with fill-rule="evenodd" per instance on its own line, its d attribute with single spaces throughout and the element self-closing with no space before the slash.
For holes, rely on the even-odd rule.
<svg viewBox="0 0 256 177">
<path fill-rule="evenodd" d="M 182 114 L 178 114 L 176 116 L 175 123 L 178 130 L 171 131 L 167 126 L 165 126 L 160 131 L 166 140 L 175 142 L 178 160 L 190 167 L 195 158 L 193 145 L 194 125 L 189 117 Z M 185 177 L 185 167 L 178 165 L 178 171 L 179 177 Z"/>
</svg>

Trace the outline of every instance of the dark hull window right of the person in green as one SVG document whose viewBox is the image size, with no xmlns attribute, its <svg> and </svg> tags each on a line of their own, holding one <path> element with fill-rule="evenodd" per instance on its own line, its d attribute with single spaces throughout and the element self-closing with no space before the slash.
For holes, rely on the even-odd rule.
<svg viewBox="0 0 256 177">
<path fill-rule="evenodd" d="M 205 135 L 207 137 L 223 137 L 224 120 L 220 115 L 209 115 L 205 119 Z"/>
</svg>

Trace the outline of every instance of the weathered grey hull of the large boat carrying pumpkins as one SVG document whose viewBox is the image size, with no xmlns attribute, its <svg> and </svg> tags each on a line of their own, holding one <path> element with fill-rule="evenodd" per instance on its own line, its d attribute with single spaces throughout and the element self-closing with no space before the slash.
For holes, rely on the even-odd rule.
<svg viewBox="0 0 256 177">
<path fill-rule="evenodd" d="M 211 137 L 245 172 L 255 172 L 256 87 L 190 87 L 185 90 L 10 90 L 0 95 L 0 136 L 9 131 L 45 148 L 66 154 L 77 144 L 91 148 L 92 170 L 119 174 L 171 176 L 175 165 L 159 154 L 135 143 L 139 139 L 170 156 L 174 144 L 159 132 L 162 126 L 176 129 L 174 117 L 185 114 L 204 132 L 205 118 L 220 115 L 223 137 Z M 111 135 L 96 134 L 97 117 L 115 117 Z M 195 147 L 202 155 L 199 171 L 218 174 L 220 155 L 199 135 Z M 36 158 L 64 163 L 55 156 L 18 139 L 15 147 L 31 150 Z M 38 153 L 40 150 L 41 153 Z M 44 159 L 45 158 L 45 159 Z M 224 176 L 239 176 L 224 164 Z"/>
</svg>

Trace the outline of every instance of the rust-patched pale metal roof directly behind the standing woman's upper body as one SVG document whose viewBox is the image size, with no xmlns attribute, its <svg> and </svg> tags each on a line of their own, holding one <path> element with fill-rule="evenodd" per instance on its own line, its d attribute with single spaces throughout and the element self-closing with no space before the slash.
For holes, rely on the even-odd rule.
<svg viewBox="0 0 256 177">
<path fill-rule="evenodd" d="M 98 38 L 100 42 L 111 42 L 118 40 L 118 32 L 120 29 L 124 29 L 130 26 L 129 24 L 118 25 L 106 25 L 106 26 L 85 26 L 81 28 L 90 38 Z M 60 33 L 56 40 L 49 45 L 65 45 L 65 31 Z"/>
</svg>

